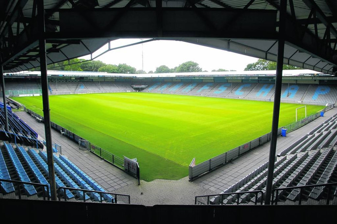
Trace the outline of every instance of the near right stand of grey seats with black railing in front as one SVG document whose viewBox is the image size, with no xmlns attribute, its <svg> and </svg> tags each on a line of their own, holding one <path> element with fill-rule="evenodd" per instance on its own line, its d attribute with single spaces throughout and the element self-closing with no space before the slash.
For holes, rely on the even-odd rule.
<svg viewBox="0 0 337 224">
<path fill-rule="evenodd" d="M 278 154 L 272 189 L 275 204 L 337 205 L 337 115 Z M 222 192 L 208 197 L 209 204 L 254 204 L 264 194 L 237 194 L 256 190 L 266 192 L 266 164 Z M 206 195 L 203 195 L 206 196 Z M 219 199 L 221 196 L 221 200 Z M 203 203 L 205 199 L 202 199 Z"/>
</svg>

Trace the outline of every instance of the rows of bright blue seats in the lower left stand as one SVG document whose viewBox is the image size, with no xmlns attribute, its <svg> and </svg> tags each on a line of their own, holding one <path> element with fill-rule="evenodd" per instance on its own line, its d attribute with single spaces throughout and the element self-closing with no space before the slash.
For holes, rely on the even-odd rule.
<svg viewBox="0 0 337 224">
<path fill-rule="evenodd" d="M 20 178 L 19 179 L 20 181 L 32 182 L 31 178 L 34 176 L 34 181 L 36 181 L 36 183 L 46 184 L 50 188 L 50 184 L 46 178 L 49 177 L 48 165 L 46 162 L 47 161 L 46 152 L 43 152 L 41 150 L 38 150 L 39 152 L 36 152 L 35 151 L 36 149 L 29 149 L 29 148 L 27 152 L 27 150 L 24 149 L 22 146 L 13 145 L 6 142 L 3 143 L 6 149 L 8 148 L 6 151 L 10 157 L 10 161 L 13 164 L 13 167 L 15 167 L 15 169 L 17 170 L 17 176 Z M 11 177 L 6 167 L 5 160 L 2 156 L 2 153 L 0 154 L 1 154 L 0 178 L 10 180 Z M 19 159 L 18 156 L 21 159 Z M 55 172 L 57 174 L 55 175 L 56 187 L 57 188 L 71 187 L 79 189 L 78 191 L 72 190 L 71 192 L 69 190 L 66 190 L 67 199 L 74 198 L 76 195 L 77 198 L 79 198 L 80 200 L 84 200 L 85 197 L 85 200 L 89 199 L 93 201 L 103 200 L 110 203 L 115 203 L 115 198 L 112 194 L 105 193 L 105 190 L 100 185 L 98 185 L 95 181 L 93 181 L 90 177 L 88 177 L 82 170 L 80 170 L 75 164 L 70 162 L 67 158 L 65 158 L 64 156 L 58 157 L 56 156 L 55 153 L 53 158 L 55 162 L 54 163 Z M 23 168 L 23 166 L 25 166 L 26 169 Z M 28 177 L 28 172 L 29 175 L 33 174 L 31 178 Z M 15 191 L 15 188 L 12 183 L 3 182 L 1 186 L 2 189 L 5 189 L 6 193 L 11 193 Z M 27 196 L 37 194 L 37 188 L 35 189 L 33 184 L 25 184 L 24 186 Z M 88 190 L 86 194 L 84 194 L 84 192 L 86 192 L 85 190 Z M 44 189 L 44 191 L 46 193 L 47 188 Z M 90 191 L 97 191 L 99 193 Z M 61 194 L 63 195 L 64 192 L 61 191 Z M 49 195 L 51 195 L 50 191 Z"/>
</svg>

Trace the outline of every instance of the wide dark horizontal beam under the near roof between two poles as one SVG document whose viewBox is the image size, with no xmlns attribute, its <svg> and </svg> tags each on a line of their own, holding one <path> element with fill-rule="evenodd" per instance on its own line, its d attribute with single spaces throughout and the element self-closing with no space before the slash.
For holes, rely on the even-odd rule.
<svg viewBox="0 0 337 224">
<path fill-rule="evenodd" d="M 58 12 L 60 31 L 48 32 L 47 39 L 106 37 L 277 38 L 276 10 L 163 7 L 159 9 L 112 8 L 88 11 L 60 9 Z M 237 16 L 236 20 L 232 26 L 226 27 L 233 16 Z M 224 27 L 226 29 L 223 29 Z M 159 36 L 160 33 L 162 36 Z"/>
</svg>

